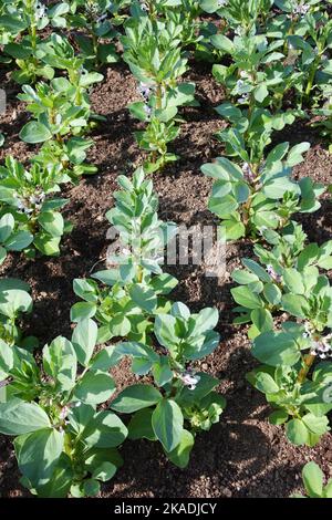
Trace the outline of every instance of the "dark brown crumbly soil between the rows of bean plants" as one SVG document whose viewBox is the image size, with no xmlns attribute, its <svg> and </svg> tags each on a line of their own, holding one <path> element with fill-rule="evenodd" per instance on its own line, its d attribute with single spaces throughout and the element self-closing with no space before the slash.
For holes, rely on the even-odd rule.
<svg viewBox="0 0 332 520">
<path fill-rule="evenodd" d="M 214 222 L 214 216 L 207 210 L 211 180 L 203 176 L 200 166 L 222 154 L 222 144 L 214 134 L 225 122 L 214 107 L 221 103 L 224 93 L 210 74 L 210 65 L 193 64 L 188 79 L 197 84 L 200 107 L 184 110 L 186 123 L 173 146 L 181 158 L 155 175 L 154 186 L 159 195 L 160 218 L 201 226 Z M 7 76 L 2 80 L 8 92 L 8 110 L 1 122 L 1 132 L 7 138 L 0 148 L 0 162 L 9 153 L 27 162 L 35 148 L 20 142 L 18 133 L 28 115 L 23 104 L 15 100 L 18 87 Z M 135 80 L 124 64 L 105 71 L 105 81 L 92 94 L 94 111 L 105 116 L 105 122 L 94 131 L 95 144 L 89 156 L 98 173 L 64 190 L 69 198 L 65 217 L 75 227 L 64 239 L 61 256 L 38 260 L 10 256 L 0 271 L 2 275 L 18 277 L 30 283 L 34 308 L 24 326 L 40 337 L 41 344 L 70 333 L 70 308 L 76 301 L 73 279 L 89 277 L 96 262 L 103 268 L 105 212 L 113 205 L 116 176 L 132 171 L 133 165 L 142 158 L 133 136 L 138 125 L 126 108 L 137 98 Z M 297 176 L 309 175 L 324 184 L 332 181 L 332 157 L 317 132 L 299 122 L 280 135 L 278 139 L 312 144 L 305 162 L 295 168 Z M 301 221 L 310 240 L 321 243 L 331 238 L 328 200 L 322 200 L 321 209 L 314 215 L 301 216 Z M 249 352 L 246 329 L 231 324 L 234 303 L 229 289 L 230 272 L 239 266 L 241 257 L 251 254 L 250 245 L 243 240 L 228 246 L 227 269 L 219 281 L 207 278 L 201 267 L 167 268 L 179 279 L 174 300 L 181 300 L 194 310 L 216 305 L 220 311 L 221 342 L 219 349 L 201 362 L 201 370 L 220 379 L 220 392 L 228 405 L 220 423 L 197 437 L 185 470 L 168 462 L 156 443 L 126 441 L 124 467 L 103 486 L 102 497 L 289 497 L 301 489 L 300 474 L 308 460 L 320 464 L 326 477 L 332 476 L 331 435 L 326 434 L 314 448 L 290 445 L 283 430 L 268 423 L 270 408 L 264 397 L 246 382 L 246 373 L 256 362 Z M 114 376 L 120 387 L 133 382 L 127 361 Z M 29 496 L 19 483 L 12 445 L 3 437 L 0 438 L 0 489 L 2 497 Z"/>
</svg>

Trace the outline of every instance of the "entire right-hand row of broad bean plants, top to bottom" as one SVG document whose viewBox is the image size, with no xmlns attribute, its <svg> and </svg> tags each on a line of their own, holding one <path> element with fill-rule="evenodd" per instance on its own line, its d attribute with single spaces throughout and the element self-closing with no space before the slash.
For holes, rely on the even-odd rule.
<svg viewBox="0 0 332 520">
<path fill-rule="evenodd" d="M 332 241 L 308 242 L 292 218 L 317 211 L 328 187 L 294 178 L 309 143 L 271 145 L 299 117 L 331 116 L 320 106 L 332 93 L 332 25 L 323 2 L 247 2 L 242 10 L 238 3 L 206 2 L 231 28 L 211 37 L 227 59 L 212 72 L 229 100 L 216 110 L 229 123 L 217 138 L 230 159 L 201 170 L 215 179 L 209 209 L 220 219 L 220 239 L 253 245 L 255 259 L 241 259 L 231 274 L 234 322 L 250 324 L 251 353 L 261 363 L 247 378 L 274 409 L 270 423 L 284 425 L 292 444 L 315 446 L 330 430 L 332 409 Z M 309 497 L 331 497 L 314 462 L 303 481 Z"/>
</svg>

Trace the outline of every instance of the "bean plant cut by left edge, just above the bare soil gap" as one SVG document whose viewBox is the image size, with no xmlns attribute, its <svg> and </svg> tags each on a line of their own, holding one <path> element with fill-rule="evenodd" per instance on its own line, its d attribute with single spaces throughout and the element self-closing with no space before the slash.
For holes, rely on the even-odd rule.
<svg viewBox="0 0 332 520">
<path fill-rule="evenodd" d="M 33 257 L 60 253 L 60 241 L 71 230 L 60 209 L 66 199 L 54 197 L 60 191 L 59 171 L 35 164 L 30 169 L 8 156 L 0 166 L 1 258 L 7 251 L 25 250 Z"/>
</svg>

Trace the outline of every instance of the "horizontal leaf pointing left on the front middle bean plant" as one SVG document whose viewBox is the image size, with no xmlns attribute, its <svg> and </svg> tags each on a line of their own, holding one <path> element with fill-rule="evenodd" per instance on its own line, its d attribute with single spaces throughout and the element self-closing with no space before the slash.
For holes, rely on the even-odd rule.
<svg viewBox="0 0 332 520">
<path fill-rule="evenodd" d="M 148 408 L 162 399 L 162 394 L 152 385 L 132 385 L 118 394 L 112 402 L 111 408 L 122 414 L 132 414 L 142 408 Z"/>
</svg>

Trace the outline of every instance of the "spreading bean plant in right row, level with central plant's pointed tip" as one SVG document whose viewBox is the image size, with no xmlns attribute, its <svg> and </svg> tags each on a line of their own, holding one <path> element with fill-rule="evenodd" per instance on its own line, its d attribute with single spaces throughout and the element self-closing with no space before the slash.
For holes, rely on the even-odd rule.
<svg viewBox="0 0 332 520">
<path fill-rule="evenodd" d="M 240 134 L 232 131 L 231 144 L 242 159 L 238 165 L 226 157 L 201 167 L 205 175 L 216 179 L 209 209 L 221 219 L 226 240 L 241 237 L 257 239 L 262 229 L 284 227 L 295 212 L 312 212 L 320 208 L 319 196 L 324 186 L 310 177 L 292 179 L 293 166 L 303 160 L 309 143 L 290 148 L 289 143 L 277 145 L 266 160 L 255 162 L 243 147 Z"/>
</svg>

